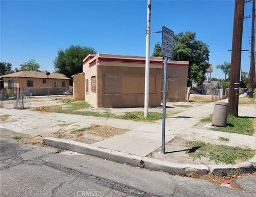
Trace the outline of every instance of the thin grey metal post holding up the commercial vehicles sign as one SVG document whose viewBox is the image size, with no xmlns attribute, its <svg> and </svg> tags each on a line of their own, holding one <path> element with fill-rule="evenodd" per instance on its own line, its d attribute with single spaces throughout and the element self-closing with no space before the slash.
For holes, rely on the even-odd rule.
<svg viewBox="0 0 256 197">
<path fill-rule="evenodd" d="M 165 153 L 165 115 L 166 115 L 166 77 L 167 58 L 164 57 L 164 84 L 163 84 L 163 124 L 162 124 L 162 153 Z"/>
</svg>

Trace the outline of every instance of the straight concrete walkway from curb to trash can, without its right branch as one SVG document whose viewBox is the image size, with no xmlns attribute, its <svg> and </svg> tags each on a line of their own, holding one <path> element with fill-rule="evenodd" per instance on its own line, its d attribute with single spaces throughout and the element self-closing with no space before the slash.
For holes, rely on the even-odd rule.
<svg viewBox="0 0 256 197">
<path fill-rule="evenodd" d="M 202 118 L 213 112 L 214 103 L 205 104 L 166 118 L 165 143 L 193 127 Z M 126 152 L 145 157 L 162 144 L 162 120 L 134 128 L 121 135 L 110 137 L 97 145 L 102 148 Z"/>
</svg>

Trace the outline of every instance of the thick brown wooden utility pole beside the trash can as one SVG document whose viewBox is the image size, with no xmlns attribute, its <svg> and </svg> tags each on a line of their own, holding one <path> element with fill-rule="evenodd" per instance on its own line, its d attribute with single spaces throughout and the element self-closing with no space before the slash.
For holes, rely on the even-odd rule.
<svg viewBox="0 0 256 197">
<path fill-rule="evenodd" d="M 241 69 L 241 50 L 244 22 L 244 0 L 235 1 L 233 40 L 231 53 L 229 97 L 229 114 L 238 116 L 239 76 Z"/>
</svg>

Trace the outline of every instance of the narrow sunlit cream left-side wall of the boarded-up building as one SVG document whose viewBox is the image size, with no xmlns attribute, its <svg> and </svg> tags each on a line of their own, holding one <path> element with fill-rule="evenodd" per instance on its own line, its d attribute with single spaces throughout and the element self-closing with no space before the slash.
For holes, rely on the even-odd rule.
<svg viewBox="0 0 256 197">
<path fill-rule="evenodd" d="M 89 85 L 89 92 L 86 93 L 86 91 L 84 91 L 84 100 L 87 103 L 90 103 L 92 106 L 94 107 L 98 107 L 98 95 L 97 93 L 99 92 L 98 90 L 98 84 L 97 84 L 97 90 L 96 93 L 92 92 L 92 80 L 91 77 L 92 76 L 96 76 L 97 80 L 98 80 L 98 76 L 97 76 L 97 64 L 92 65 L 91 67 L 89 67 L 87 64 L 83 65 L 83 72 L 84 72 L 84 84 L 86 79 L 88 80 L 88 85 Z M 86 89 L 86 87 L 84 87 Z"/>
</svg>

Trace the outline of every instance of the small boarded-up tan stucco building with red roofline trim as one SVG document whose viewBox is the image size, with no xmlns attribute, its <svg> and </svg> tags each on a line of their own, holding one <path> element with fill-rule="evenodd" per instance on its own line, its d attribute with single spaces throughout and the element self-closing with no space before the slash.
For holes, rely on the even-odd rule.
<svg viewBox="0 0 256 197">
<path fill-rule="evenodd" d="M 161 105 L 163 58 L 150 58 L 149 106 Z M 188 62 L 168 61 L 167 102 L 185 101 Z M 73 76 L 74 100 L 96 108 L 131 108 L 144 105 L 145 57 L 89 54 L 83 72 Z"/>
</svg>

